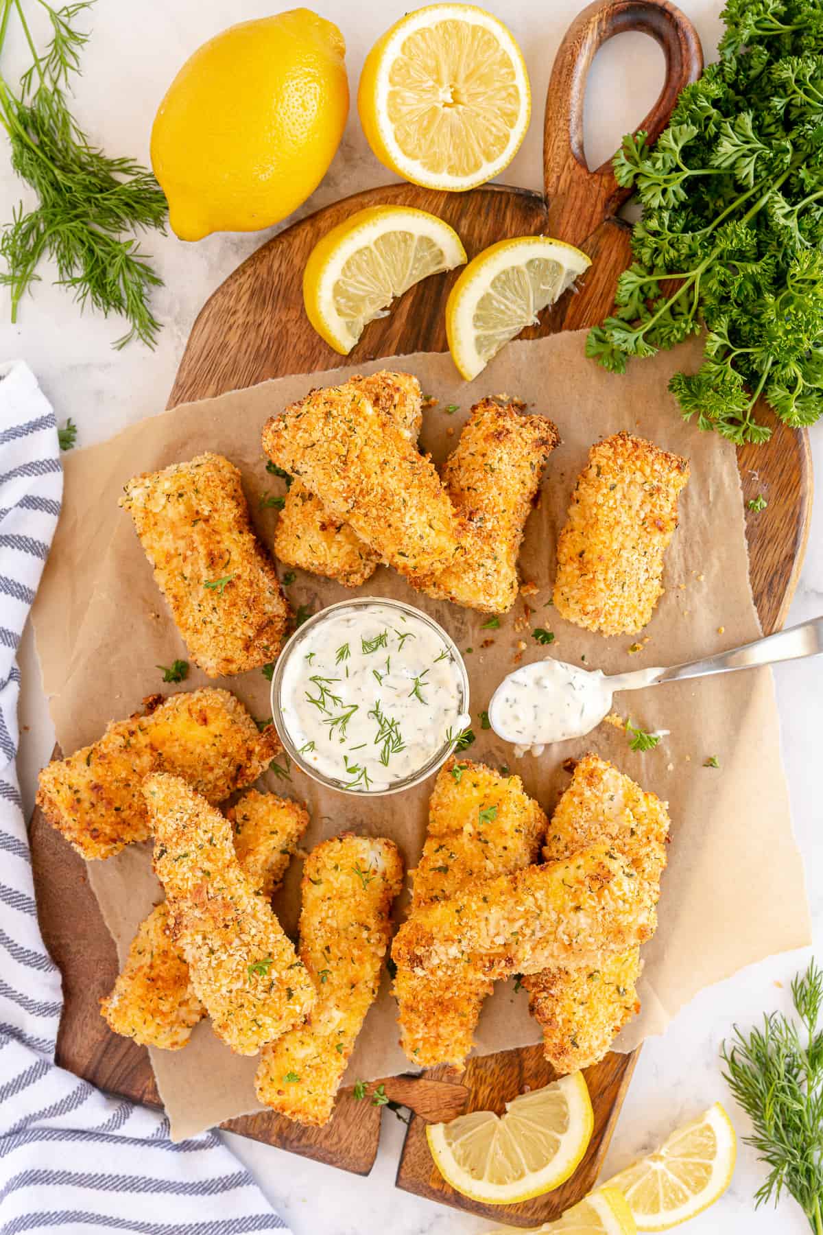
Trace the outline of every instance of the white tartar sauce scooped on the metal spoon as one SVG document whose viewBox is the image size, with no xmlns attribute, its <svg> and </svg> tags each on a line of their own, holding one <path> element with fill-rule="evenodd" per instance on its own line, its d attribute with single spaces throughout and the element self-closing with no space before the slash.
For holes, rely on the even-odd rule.
<svg viewBox="0 0 823 1235">
<path fill-rule="evenodd" d="M 651 683 L 659 668 L 633 673 Z M 619 676 L 584 669 L 565 661 L 534 661 L 510 673 L 489 704 L 489 722 L 498 737 L 515 742 L 519 757 L 542 755 L 552 742 L 565 742 L 591 732 L 612 710 L 612 695 L 622 685 Z"/>
</svg>

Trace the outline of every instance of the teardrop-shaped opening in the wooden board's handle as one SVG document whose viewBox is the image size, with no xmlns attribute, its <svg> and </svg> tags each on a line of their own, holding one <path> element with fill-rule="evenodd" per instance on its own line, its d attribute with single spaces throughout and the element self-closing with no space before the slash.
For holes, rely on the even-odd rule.
<svg viewBox="0 0 823 1235">
<path fill-rule="evenodd" d="M 663 90 L 666 61 L 648 35 L 614 35 L 592 61 L 582 105 L 584 153 L 591 170 L 611 159 Z"/>
</svg>

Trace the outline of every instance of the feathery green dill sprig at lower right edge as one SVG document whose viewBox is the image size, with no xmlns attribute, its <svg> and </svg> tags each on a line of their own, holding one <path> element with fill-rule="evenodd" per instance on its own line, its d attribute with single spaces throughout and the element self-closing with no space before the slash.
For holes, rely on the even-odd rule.
<svg viewBox="0 0 823 1235">
<path fill-rule="evenodd" d="M 823 971 L 814 960 L 791 989 L 803 1040 L 797 1023 L 777 1011 L 748 1035 L 735 1025 L 721 1050 L 723 1076 L 754 1124 L 744 1141 L 769 1167 L 755 1205 L 776 1205 L 785 1191 L 823 1235 Z"/>
</svg>

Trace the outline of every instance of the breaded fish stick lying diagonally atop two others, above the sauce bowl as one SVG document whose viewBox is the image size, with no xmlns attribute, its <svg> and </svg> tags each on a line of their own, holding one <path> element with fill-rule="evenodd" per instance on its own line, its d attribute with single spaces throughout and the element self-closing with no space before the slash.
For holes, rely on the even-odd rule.
<svg viewBox="0 0 823 1235">
<path fill-rule="evenodd" d="M 434 464 L 355 385 L 273 416 L 263 448 L 401 574 L 426 582 L 450 564 L 458 520 Z"/>
</svg>

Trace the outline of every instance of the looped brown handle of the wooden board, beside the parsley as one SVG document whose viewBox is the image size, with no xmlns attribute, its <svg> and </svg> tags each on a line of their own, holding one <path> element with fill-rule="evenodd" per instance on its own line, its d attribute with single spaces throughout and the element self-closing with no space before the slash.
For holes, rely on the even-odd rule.
<svg viewBox="0 0 823 1235">
<path fill-rule="evenodd" d="M 584 153 L 582 100 L 591 62 L 614 35 L 639 30 L 663 48 L 666 77 L 658 101 L 638 125 L 654 141 L 669 122 L 677 95 L 703 69 L 703 52 L 689 17 L 668 0 L 595 0 L 560 43 L 545 98 L 543 179 L 550 236 L 581 243 L 631 196 L 614 179 L 612 161 L 590 170 Z"/>
</svg>

